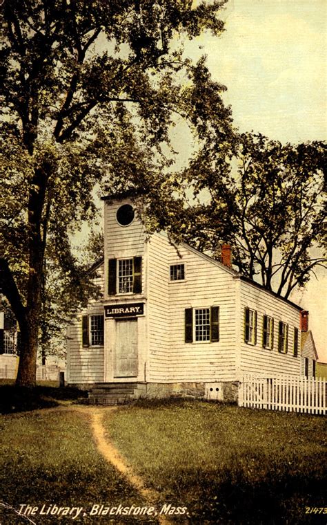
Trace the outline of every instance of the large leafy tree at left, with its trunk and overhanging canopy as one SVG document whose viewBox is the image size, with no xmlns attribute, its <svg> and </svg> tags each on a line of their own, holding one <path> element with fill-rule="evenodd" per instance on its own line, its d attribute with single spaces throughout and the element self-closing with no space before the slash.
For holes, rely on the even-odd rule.
<svg viewBox="0 0 327 525">
<path fill-rule="evenodd" d="M 49 261 L 67 289 L 86 282 L 70 234 L 94 217 L 95 185 L 169 200 L 177 118 L 203 145 L 232 144 L 224 86 L 183 50 L 185 39 L 223 30 L 224 3 L 1 4 L 0 287 L 21 329 L 18 384 L 34 383 Z"/>
</svg>

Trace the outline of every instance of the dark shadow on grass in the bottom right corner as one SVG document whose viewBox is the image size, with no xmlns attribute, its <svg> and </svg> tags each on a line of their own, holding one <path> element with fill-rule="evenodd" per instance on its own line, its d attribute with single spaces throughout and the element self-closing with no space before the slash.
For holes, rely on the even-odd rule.
<svg viewBox="0 0 327 525">
<path fill-rule="evenodd" d="M 194 472 L 190 472 L 194 480 Z M 180 498 L 192 492 L 187 475 L 179 479 Z M 197 494 L 190 502 L 190 523 L 221 525 L 322 524 L 326 514 L 323 479 L 266 477 L 255 484 L 242 479 L 217 480 L 217 472 L 199 473 Z M 326 503 L 325 503 L 326 506 Z M 321 509 L 306 513 L 308 507 Z"/>
</svg>

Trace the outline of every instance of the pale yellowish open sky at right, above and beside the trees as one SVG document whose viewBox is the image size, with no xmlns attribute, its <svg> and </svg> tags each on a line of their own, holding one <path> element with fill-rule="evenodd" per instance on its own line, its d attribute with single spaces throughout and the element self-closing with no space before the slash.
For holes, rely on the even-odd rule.
<svg viewBox="0 0 327 525">
<path fill-rule="evenodd" d="M 214 80 L 225 84 L 240 131 L 281 142 L 326 140 L 326 0 L 229 0 L 225 31 L 188 44 L 206 53 Z M 291 300 L 308 309 L 319 360 L 327 362 L 327 275 L 319 269 Z"/>
</svg>

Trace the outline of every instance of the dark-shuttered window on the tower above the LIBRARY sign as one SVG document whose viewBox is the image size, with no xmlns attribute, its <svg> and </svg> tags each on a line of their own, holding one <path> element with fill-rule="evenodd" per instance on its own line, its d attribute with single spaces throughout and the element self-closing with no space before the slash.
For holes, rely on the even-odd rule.
<svg viewBox="0 0 327 525">
<path fill-rule="evenodd" d="M 142 257 L 128 259 L 109 259 L 108 294 L 141 293 Z"/>
</svg>

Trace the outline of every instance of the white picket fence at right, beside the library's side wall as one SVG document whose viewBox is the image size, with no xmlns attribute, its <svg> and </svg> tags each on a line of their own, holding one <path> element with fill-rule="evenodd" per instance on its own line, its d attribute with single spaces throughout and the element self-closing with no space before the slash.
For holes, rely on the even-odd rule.
<svg viewBox="0 0 327 525">
<path fill-rule="evenodd" d="M 326 414 L 326 379 L 246 375 L 239 382 L 238 403 L 240 407 Z"/>
</svg>

